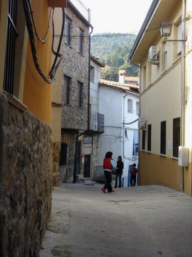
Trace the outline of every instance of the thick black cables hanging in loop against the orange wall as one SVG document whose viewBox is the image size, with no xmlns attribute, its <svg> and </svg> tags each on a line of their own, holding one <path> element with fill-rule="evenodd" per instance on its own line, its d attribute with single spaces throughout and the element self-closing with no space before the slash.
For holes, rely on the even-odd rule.
<svg viewBox="0 0 192 257">
<path fill-rule="evenodd" d="M 34 66 L 36 68 L 36 70 L 38 71 L 39 75 L 44 79 L 44 81 L 48 84 L 51 84 L 54 80 L 55 80 L 55 73 L 56 70 L 58 69 L 59 63 L 62 59 L 62 55 L 59 54 L 60 51 L 60 46 L 61 46 L 61 42 L 62 42 L 62 37 L 63 37 L 63 31 L 64 31 L 64 22 L 65 22 L 65 13 L 64 13 L 64 8 L 62 8 L 62 26 L 61 26 L 61 33 L 60 33 L 60 37 L 59 37 L 59 43 L 58 43 L 58 47 L 57 47 L 57 51 L 55 52 L 53 50 L 53 43 L 54 43 L 54 22 L 53 22 L 53 14 L 54 14 L 54 9 L 52 10 L 52 30 L 53 30 L 53 34 L 52 34 L 52 53 L 55 55 L 54 58 L 54 62 L 52 64 L 52 67 L 50 69 L 49 72 L 49 77 L 50 79 L 48 79 L 44 73 L 42 72 L 42 70 L 40 69 L 40 66 L 38 64 L 38 60 L 37 60 L 37 56 L 36 56 L 36 48 L 35 48 L 35 40 L 34 40 L 34 34 L 33 33 L 33 26 L 32 26 L 32 22 L 30 20 L 30 0 L 22 0 L 22 5 L 23 5 L 23 9 L 24 9 L 24 15 L 25 15 L 25 19 L 26 19 L 26 27 L 27 27 L 27 31 L 28 31 L 28 35 L 29 35 L 29 40 L 30 40 L 30 48 L 31 48 L 31 53 L 32 53 L 32 59 L 34 62 Z M 32 10 L 32 9 L 31 9 Z M 34 23 L 35 24 L 35 23 Z M 47 29 L 48 30 L 48 29 Z M 36 35 L 36 34 L 35 34 Z M 46 35 L 45 35 L 46 36 Z M 46 39 L 46 38 L 45 38 Z M 41 41 L 41 40 L 40 40 Z M 42 40 L 43 41 L 43 40 Z M 44 43 L 44 42 L 42 42 Z M 56 64 L 57 58 L 60 58 L 59 61 Z"/>
</svg>

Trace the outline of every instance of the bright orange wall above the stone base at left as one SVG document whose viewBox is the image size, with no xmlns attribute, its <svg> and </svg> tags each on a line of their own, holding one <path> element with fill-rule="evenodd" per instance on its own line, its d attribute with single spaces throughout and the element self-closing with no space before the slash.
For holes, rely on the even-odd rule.
<svg viewBox="0 0 192 257">
<path fill-rule="evenodd" d="M 42 39 L 46 33 L 50 8 L 47 0 L 32 0 L 32 10 L 37 33 Z M 43 73 L 48 76 L 51 68 L 51 26 L 44 44 L 35 38 L 37 59 Z M 46 83 L 34 67 L 28 39 L 23 103 L 34 115 L 51 124 L 51 84 Z"/>
</svg>

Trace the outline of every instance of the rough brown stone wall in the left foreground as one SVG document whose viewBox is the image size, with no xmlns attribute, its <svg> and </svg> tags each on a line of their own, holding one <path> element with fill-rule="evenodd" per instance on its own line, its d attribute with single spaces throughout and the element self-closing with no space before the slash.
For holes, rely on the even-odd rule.
<svg viewBox="0 0 192 257">
<path fill-rule="evenodd" d="M 0 256 L 38 257 L 51 211 L 50 127 L 0 94 Z"/>
</svg>

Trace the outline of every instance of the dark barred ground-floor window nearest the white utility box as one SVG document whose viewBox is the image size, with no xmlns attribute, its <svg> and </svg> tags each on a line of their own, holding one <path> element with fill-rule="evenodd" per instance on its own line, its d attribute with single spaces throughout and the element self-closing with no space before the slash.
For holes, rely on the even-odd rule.
<svg viewBox="0 0 192 257">
<path fill-rule="evenodd" d="M 178 146 L 180 145 L 180 117 L 173 118 L 173 148 L 172 156 L 178 158 Z"/>
</svg>

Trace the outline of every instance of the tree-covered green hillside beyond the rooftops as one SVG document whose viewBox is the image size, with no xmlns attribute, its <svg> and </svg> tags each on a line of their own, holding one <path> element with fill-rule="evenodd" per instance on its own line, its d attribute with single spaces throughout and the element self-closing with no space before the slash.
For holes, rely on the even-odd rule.
<svg viewBox="0 0 192 257">
<path fill-rule="evenodd" d="M 118 70 L 126 70 L 128 76 L 138 76 L 138 68 L 127 63 L 128 55 L 136 39 L 134 34 L 95 34 L 91 37 L 91 54 L 106 67 L 101 78 L 118 81 Z"/>
</svg>

